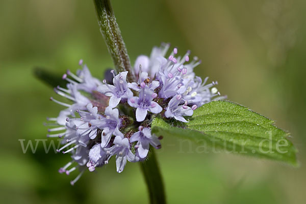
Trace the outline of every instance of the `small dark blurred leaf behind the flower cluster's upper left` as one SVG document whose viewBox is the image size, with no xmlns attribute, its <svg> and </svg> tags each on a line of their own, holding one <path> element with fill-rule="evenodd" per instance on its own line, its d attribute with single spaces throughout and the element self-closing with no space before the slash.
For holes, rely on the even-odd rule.
<svg viewBox="0 0 306 204">
<path fill-rule="evenodd" d="M 34 75 L 47 85 L 52 86 L 52 88 L 56 87 L 57 85 L 65 88 L 67 84 L 67 81 L 63 80 L 61 75 L 49 72 L 40 67 L 34 68 Z"/>
</svg>

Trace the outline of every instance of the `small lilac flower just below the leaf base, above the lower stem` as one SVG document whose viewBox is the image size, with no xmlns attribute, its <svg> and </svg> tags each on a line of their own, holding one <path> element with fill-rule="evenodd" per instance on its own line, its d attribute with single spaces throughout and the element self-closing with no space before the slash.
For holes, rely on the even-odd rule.
<svg viewBox="0 0 306 204">
<path fill-rule="evenodd" d="M 139 126 L 138 132 L 134 133 L 130 139 L 130 142 L 137 141 L 135 148 L 137 148 L 137 154 L 140 158 L 145 158 L 149 152 L 150 144 L 156 148 L 161 148 L 161 143 L 156 135 L 151 134 L 150 128 L 143 128 Z"/>
</svg>

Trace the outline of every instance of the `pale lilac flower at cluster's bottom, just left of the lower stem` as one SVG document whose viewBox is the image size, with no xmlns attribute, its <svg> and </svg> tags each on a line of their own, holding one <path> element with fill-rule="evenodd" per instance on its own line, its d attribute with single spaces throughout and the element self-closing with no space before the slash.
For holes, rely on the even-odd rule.
<svg viewBox="0 0 306 204">
<path fill-rule="evenodd" d="M 129 139 L 115 137 L 114 145 L 105 149 L 108 155 L 116 155 L 117 172 L 121 173 L 125 167 L 126 159 L 130 162 L 139 161 L 131 151 Z"/>
</svg>

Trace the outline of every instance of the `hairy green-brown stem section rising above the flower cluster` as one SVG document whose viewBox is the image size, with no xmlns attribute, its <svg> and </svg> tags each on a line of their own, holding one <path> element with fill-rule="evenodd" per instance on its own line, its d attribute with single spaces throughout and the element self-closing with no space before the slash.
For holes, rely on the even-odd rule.
<svg viewBox="0 0 306 204">
<path fill-rule="evenodd" d="M 127 80 L 134 81 L 129 55 L 123 42 L 110 0 L 94 0 L 100 32 L 113 58 L 117 72 L 129 71 Z"/>
</svg>

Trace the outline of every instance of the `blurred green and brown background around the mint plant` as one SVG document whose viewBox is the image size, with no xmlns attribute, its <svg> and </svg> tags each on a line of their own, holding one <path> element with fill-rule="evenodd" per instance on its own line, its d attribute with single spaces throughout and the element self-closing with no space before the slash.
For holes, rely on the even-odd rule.
<svg viewBox="0 0 306 204">
<path fill-rule="evenodd" d="M 169 203 L 304 203 L 306 138 L 306 2 L 290 0 L 113 1 L 134 63 L 152 46 L 171 42 L 202 64 L 231 101 L 274 119 L 292 133 L 299 168 L 231 154 L 179 153 L 175 138 L 157 151 Z M 75 186 L 58 168 L 69 156 L 23 154 L 18 139 L 45 139 L 46 116 L 61 106 L 33 76 L 42 66 L 62 74 L 83 59 L 94 76 L 112 67 L 92 1 L 0 2 L 0 198 L 3 203 L 147 203 L 138 164 L 121 174 L 115 162 L 84 173 Z M 47 144 L 49 144 L 47 142 Z M 171 145 L 171 144 L 174 144 Z"/>
</svg>

